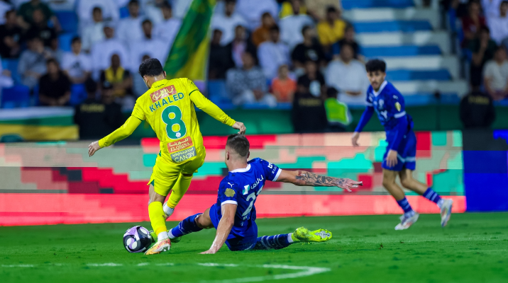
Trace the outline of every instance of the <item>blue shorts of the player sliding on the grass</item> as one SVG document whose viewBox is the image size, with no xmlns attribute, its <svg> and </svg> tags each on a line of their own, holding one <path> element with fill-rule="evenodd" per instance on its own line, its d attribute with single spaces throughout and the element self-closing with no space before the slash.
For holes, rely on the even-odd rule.
<svg viewBox="0 0 508 283">
<path fill-rule="evenodd" d="M 215 229 L 221 221 L 220 212 L 221 207 L 219 205 L 214 204 L 210 207 L 210 219 Z M 226 240 L 226 246 L 233 251 L 250 250 L 254 248 L 256 243 L 258 243 L 258 225 L 255 224 L 255 221 L 250 221 L 247 227 L 241 229 L 233 226 Z"/>
</svg>

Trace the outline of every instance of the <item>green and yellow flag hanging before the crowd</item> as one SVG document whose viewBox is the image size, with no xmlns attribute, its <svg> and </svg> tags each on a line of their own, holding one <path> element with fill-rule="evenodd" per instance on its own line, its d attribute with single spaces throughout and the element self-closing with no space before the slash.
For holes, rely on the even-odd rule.
<svg viewBox="0 0 508 283">
<path fill-rule="evenodd" d="M 192 1 L 164 65 L 169 78 L 205 81 L 215 3 L 216 0 Z"/>
</svg>

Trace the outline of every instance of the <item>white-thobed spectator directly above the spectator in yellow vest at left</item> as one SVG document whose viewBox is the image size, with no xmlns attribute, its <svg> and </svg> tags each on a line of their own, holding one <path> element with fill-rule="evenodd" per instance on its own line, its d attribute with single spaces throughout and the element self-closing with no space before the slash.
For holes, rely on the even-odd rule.
<svg viewBox="0 0 508 283">
<path fill-rule="evenodd" d="M 104 24 L 104 40 L 95 42 L 92 46 L 92 77 L 99 79 L 99 71 L 107 69 L 111 62 L 111 56 L 118 54 L 121 62 L 128 62 L 128 52 L 125 43 L 114 38 L 115 30 L 112 23 Z"/>
</svg>

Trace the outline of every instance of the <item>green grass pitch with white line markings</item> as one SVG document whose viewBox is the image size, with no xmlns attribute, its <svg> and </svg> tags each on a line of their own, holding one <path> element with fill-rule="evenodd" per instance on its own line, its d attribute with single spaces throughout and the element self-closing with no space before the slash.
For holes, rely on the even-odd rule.
<svg viewBox="0 0 508 283">
<path fill-rule="evenodd" d="M 438 215 L 426 214 L 394 231 L 395 215 L 259 219 L 260 235 L 306 226 L 329 229 L 333 239 L 199 255 L 214 239 L 210 229 L 151 256 L 123 248 L 134 224 L 0 227 L 0 282 L 508 282 L 507 220 L 453 214 L 442 229 Z"/>
</svg>

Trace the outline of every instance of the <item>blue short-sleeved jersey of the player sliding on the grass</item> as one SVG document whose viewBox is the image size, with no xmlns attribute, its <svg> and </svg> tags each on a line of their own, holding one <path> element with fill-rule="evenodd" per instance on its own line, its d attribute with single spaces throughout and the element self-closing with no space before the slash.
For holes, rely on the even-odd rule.
<svg viewBox="0 0 508 283">
<path fill-rule="evenodd" d="M 217 207 L 222 204 L 237 204 L 232 236 L 244 238 L 257 237 L 255 226 L 255 201 L 267 180 L 276 181 L 282 170 L 261 158 L 248 161 L 247 168 L 229 172 L 222 179 L 217 195 Z M 216 209 L 217 219 L 221 219 L 221 209 Z M 212 217 L 212 216 L 211 216 Z M 250 235 L 250 234 L 253 235 Z M 254 235 L 255 233 L 255 235 Z"/>
</svg>

